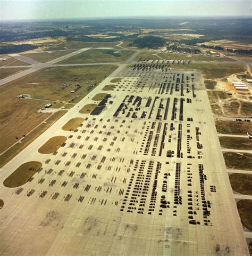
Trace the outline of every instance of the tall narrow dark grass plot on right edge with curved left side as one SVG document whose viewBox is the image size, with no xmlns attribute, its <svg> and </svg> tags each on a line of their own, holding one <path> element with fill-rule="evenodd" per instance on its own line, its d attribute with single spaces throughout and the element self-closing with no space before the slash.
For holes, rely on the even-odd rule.
<svg viewBox="0 0 252 256">
<path fill-rule="evenodd" d="M 242 199 L 237 203 L 241 223 L 244 227 L 252 230 L 252 200 Z"/>
</svg>

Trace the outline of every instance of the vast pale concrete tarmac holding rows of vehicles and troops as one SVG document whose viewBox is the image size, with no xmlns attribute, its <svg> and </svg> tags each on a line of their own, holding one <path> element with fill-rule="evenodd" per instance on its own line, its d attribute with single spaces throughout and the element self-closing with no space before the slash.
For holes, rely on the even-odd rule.
<svg viewBox="0 0 252 256">
<path fill-rule="evenodd" d="M 79 113 L 104 92 L 99 115 Z M 81 126 L 62 130 L 76 117 Z M 40 154 L 55 136 L 65 145 Z M 1 180 L 30 161 L 43 165 L 33 179 L 0 185 L 3 255 L 249 255 L 198 71 L 120 65 Z"/>
</svg>

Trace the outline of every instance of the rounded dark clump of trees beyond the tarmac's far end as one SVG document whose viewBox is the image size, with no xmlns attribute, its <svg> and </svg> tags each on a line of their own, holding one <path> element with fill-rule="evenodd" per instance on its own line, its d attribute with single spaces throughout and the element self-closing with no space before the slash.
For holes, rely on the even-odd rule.
<svg viewBox="0 0 252 256">
<path fill-rule="evenodd" d="M 145 36 L 134 40 L 132 44 L 129 44 L 129 46 L 156 49 L 158 47 L 162 47 L 165 43 L 166 40 L 164 38 L 157 36 Z"/>
</svg>

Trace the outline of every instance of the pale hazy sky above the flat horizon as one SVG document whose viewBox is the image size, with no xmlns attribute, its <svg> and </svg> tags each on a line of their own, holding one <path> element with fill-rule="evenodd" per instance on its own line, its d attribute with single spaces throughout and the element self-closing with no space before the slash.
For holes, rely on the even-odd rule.
<svg viewBox="0 0 252 256">
<path fill-rule="evenodd" d="M 251 15 L 251 0 L 0 0 L 0 19 Z"/>
</svg>

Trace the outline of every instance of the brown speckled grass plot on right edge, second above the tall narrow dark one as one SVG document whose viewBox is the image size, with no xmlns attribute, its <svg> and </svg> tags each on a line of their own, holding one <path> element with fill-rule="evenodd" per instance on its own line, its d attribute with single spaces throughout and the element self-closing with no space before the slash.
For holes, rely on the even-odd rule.
<svg viewBox="0 0 252 256">
<path fill-rule="evenodd" d="M 225 152 L 223 157 L 229 169 L 252 171 L 252 154 Z"/>
</svg>

